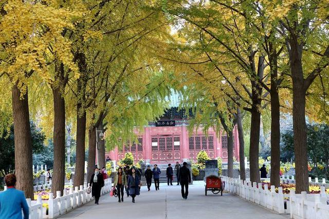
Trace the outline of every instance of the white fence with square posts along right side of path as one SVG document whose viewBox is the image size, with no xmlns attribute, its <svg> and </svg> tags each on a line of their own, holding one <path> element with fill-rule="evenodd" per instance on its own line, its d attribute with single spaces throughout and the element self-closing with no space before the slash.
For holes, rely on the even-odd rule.
<svg viewBox="0 0 329 219">
<path fill-rule="evenodd" d="M 329 195 L 325 193 L 324 187 L 321 187 L 320 194 L 295 194 L 295 190 L 283 194 L 282 187 L 278 188 L 277 193 L 274 186 L 268 190 L 266 184 L 263 189 L 261 183 L 251 184 L 250 181 L 226 176 L 222 176 L 222 179 L 228 192 L 279 214 L 290 214 L 290 218 L 329 219 L 329 205 L 326 203 Z"/>
</svg>

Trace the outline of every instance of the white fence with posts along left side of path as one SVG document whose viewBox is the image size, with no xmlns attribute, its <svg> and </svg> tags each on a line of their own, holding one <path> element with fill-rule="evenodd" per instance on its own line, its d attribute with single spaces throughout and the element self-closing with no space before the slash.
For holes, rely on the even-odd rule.
<svg viewBox="0 0 329 219">
<path fill-rule="evenodd" d="M 5 186 L 5 190 L 7 187 Z M 69 192 L 66 189 L 61 192 L 56 192 L 56 198 L 53 198 L 53 194 L 49 193 L 49 200 L 42 200 L 41 195 L 34 201 L 27 198 L 27 204 L 30 209 L 29 219 L 42 219 L 42 218 L 56 218 L 62 214 L 80 207 L 83 204 L 94 200 L 92 193 L 87 193 L 87 184 L 84 186 L 75 187 L 75 190 L 70 188 Z M 101 190 L 101 195 L 107 194 L 112 189 L 112 179 L 108 178 L 104 180 L 104 187 Z M 46 215 L 46 208 L 42 204 L 48 204 L 48 215 Z"/>
</svg>

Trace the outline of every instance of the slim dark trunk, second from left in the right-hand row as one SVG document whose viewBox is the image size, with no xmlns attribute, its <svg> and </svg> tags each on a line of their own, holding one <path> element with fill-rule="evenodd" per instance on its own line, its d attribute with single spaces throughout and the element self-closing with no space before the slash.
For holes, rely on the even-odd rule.
<svg viewBox="0 0 329 219">
<path fill-rule="evenodd" d="M 239 157 L 240 157 L 240 177 L 246 180 L 246 169 L 245 169 L 245 140 L 243 138 L 243 127 L 242 127 L 242 114 L 240 108 L 237 107 L 237 132 L 239 133 Z"/>
</svg>

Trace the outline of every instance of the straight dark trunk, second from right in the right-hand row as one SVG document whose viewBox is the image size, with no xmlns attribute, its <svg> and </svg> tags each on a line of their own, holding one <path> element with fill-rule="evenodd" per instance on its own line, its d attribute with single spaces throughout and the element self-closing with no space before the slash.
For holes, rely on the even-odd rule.
<svg viewBox="0 0 329 219">
<path fill-rule="evenodd" d="M 272 84 L 273 82 L 271 82 Z M 271 85 L 271 185 L 280 187 L 280 102 L 278 90 Z"/>
</svg>

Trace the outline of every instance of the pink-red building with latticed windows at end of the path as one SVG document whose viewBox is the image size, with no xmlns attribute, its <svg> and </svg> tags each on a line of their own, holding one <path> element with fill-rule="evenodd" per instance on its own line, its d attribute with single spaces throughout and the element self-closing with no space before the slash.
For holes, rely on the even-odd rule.
<svg viewBox="0 0 329 219">
<path fill-rule="evenodd" d="M 159 122 L 161 123 L 160 120 Z M 105 157 L 109 156 L 112 160 L 120 160 L 126 152 L 131 152 L 135 160 L 144 159 L 146 163 L 174 163 L 182 162 L 188 159 L 196 160 L 199 151 L 205 150 L 212 159 L 217 157 L 227 161 L 227 136 L 225 132 L 216 135 L 213 129 L 208 130 L 206 136 L 201 129 L 195 131 L 191 137 L 187 130 L 187 120 L 174 121 L 175 126 L 155 126 L 155 123 L 149 123 L 144 128 L 144 133 L 136 132 L 137 143 L 125 145 L 121 150 L 116 148 L 107 152 Z M 165 120 L 165 125 L 168 120 Z M 162 122 L 163 123 L 163 122 Z M 239 160 L 239 136 L 236 126 L 233 130 L 234 147 L 233 156 Z"/>
</svg>

